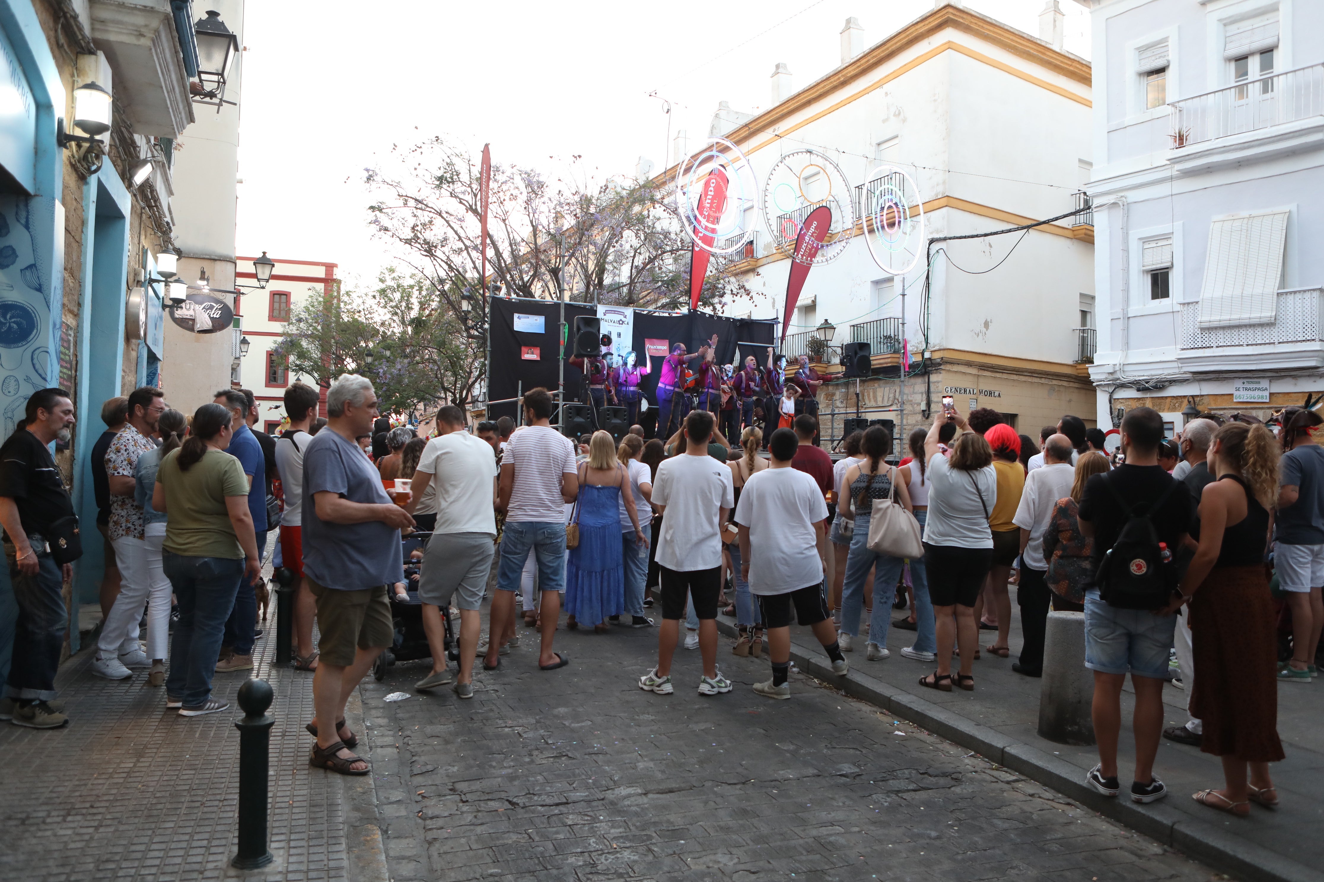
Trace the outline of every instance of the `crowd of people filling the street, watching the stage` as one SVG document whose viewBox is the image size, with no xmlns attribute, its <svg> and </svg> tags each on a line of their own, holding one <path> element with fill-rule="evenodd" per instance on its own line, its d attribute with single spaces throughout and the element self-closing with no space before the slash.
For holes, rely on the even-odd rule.
<svg viewBox="0 0 1324 882">
<path fill-rule="evenodd" d="M 687 357 L 673 356 L 671 368 Z M 1076 417 L 1046 426 L 1035 444 L 996 411 L 963 415 L 944 403 L 904 451 L 871 426 L 845 438 L 834 463 L 814 444 L 812 413 L 788 409 L 767 438 L 749 424 L 749 399 L 771 393 L 781 369 L 769 352 L 765 374 L 747 361 L 732 380 L 748 414 L 733 442 L 730 422 L 699 407 L 665 438 L 645 440 L 633 426 L 620 440 L 597 431 L 576 443 L 551 424 L 544 389 L 524 393 L 518 426 L 503 417 L 470 428 L 448 405 L 432 436 L 418 438 L 383 424 L 372 383 L 354 374 L 326 390 L 324 419 L 316 389 L 287 389 L 278 438 L 254 428 L 244 390 L 221 390 L 191 417 L 154 387 L 111 399 L 93 446 L 106 567 L 91 672 L 146 670 L 183 717 L 225 710 L 212 680 L 253 666 L 271 546 L 294 588 L 294 664 L 314 673 L 310 763 L 365 775 L 344 706 L 396 639 L 393 602 L 421 607 L 433 661 L 420 690 L 451 685 L 473 698 L 475 664 L 500 668 L 520 618 L 539 631 L 539 669 L 552 672 L 572 664 L 556 647 L 563 612 L 568 629 L 605 633 L 653 627 L 647 611 L 659 608 L 657 664 L 641 689 L 674 692 L 683 645 L 699 651 L 700 696 L 731 692 L 716 628 L 731 615 L 733 653 L 768 656 L 771 677 L 755 692 L 785 700 L 792 623 L 810 628 L 837 676 L 847 674 L 862 627 L 866 661 L 890 657 L 890 628 L 912 631 L 900 655 L 933 665 L 922 688 L 974 690 L 982 653 L 1012 652 L 1010 584 L 1018 674 L 1043 674 L 1050 610 L 1083 614 L 1096 791 L 1121 789 L 1129 674 L 1131 799 L 1166 795 L 1153 771 L 1166 737 L 1222 758 L 1223 787 L 1196 793 L 1202 804 L 1234 815 L 1276 805 L 1276 682 L 1311 682 L 1324 625 L 1324 451 L 1312 435 L 1324 421 L 1315 411 L 1284 410 L 1276 435 L 1209 414 L 1168 442 L 1160 414 L 1136 407 L 1110 456 L 1103 434 Z M 784 385 L 776 391 L 785 397 Z M 0 710 L 34 729 L 68 723 L 54 690 L 61 584 L 87 540 L 50 446 L 73 422 L 68 393 L 40 390 L 0 447 L 0 525 L 20 610 Z M 410 536 L 425 543 L 405 561 Z M 894 608 L 908 612 L 894 621 Z M 1280 662 L 1283 623 L 1291 657 Z M 992 643 L 980 645 L 981 631 Z M 1164 730 L 1173 653 L 1190 721 Z"/>
</svg>

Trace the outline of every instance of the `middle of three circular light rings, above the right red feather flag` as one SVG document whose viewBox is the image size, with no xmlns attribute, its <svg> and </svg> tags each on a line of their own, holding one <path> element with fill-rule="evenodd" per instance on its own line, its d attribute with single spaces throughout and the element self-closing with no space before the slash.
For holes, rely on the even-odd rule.
<svg viewBox="0 0 1324 882">
<path fill-rule="evenodd" d="M 818 193 L 805 193 L 804 179 L 812 173 L 822 176 L 821 182 L 812 181 L 814 186 L 826 186 L 826 194 L 817 200 L 810 197 Z M 839 258 L 855 235 L 855 206 L 850 193 L 850 179 L 825 153 L 806 148 L 782 156 L 769 169 L 763 185 L 763 220 L 773 246 L 790 257 L 805 218 L 820 205 L 826 205 L 831 209 L 829 241 L 818 249 L 810 266 Z"/>
</svg>

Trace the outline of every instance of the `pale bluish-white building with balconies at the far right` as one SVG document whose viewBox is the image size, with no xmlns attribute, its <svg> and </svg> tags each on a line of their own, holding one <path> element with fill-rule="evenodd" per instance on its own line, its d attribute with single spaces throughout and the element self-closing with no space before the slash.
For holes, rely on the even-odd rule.
<svg viewBox="0 0 1324 882">
<path fill-rule="evenodd" d="M 1098 419 L 1324 389 L 1324 3 L 1092 9 Z"/>
</svg>

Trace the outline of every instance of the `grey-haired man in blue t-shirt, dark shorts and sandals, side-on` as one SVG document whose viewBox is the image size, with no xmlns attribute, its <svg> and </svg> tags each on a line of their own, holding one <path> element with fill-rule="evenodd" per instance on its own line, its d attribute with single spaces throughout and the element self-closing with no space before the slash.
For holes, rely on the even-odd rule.
<svg viewBox="0 0 1324 882">
<path fill-rule="evenodd" d="M 308 764 L 342 775 L 368 774 L 350 750 L 359 739 L 344 725 L 344 703 L 395 639 L 387 586 L 404 582 L 400 528 L 414 522 L 355 443 L 376 418 L 372 383 L 342 374 L 327 390 L 327 431 L 303 454 L 303 581 L 322 635 L 307 726 L 318 742 Z"/>
</svg>

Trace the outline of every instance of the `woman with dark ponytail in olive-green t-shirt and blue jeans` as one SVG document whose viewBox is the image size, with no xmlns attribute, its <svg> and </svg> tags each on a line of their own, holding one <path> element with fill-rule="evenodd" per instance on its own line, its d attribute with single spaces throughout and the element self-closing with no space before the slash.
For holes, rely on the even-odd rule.
<svg viewBox="0 0 1324 882">
<path fill-rule="evenodd" d="M 225 452 L 230 438 L 230 411 L 203 405 L 184 443 L 162 458 L 152 487 L 152 509 L 167 514 L 163 569 L 179 599 L 166 706 L 181 717 L 229 707 L 212 698 L 212 673 L 240 579 L 262 573 L 248 476 Z"/>
</svg>

